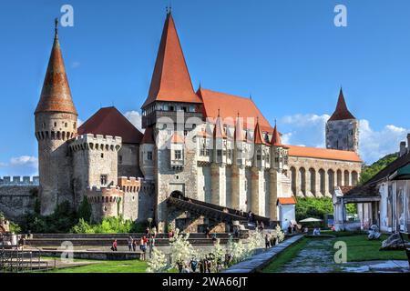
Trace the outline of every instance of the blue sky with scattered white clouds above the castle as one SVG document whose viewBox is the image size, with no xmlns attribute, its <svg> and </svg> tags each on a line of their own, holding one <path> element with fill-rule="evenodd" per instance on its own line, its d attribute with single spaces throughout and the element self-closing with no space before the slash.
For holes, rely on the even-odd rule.
<svg viewBox="0 0 410 291">
<path fill-rule="evenodd" d="M 168 0 L 2 1 L 0 176 L 36 174 L 33 113 L 64 4 L 75 13 L 59 35 L 79 118 L 116 105 L 138 120 L 148 94 Z M 337 4 L 347 27 L 333 25 Z M 251 94 L 287 142 L 323 146 L 343 85 L 366 162 L 410 132 L 408 11 L 405 0 L 172 0 L 195 88 Z"/>
</svg>

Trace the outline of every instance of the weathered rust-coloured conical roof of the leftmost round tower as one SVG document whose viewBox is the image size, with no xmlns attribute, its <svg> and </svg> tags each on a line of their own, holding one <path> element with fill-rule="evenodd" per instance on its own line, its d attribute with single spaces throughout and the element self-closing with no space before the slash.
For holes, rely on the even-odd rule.
<svg viewBox="0 0 410 291">
<path fill-rule="evenodd" d="M 77 115 L 71 97 L 70 86 L 68 85 L 66 67 L 61 54 L 57 31 L 35 114 L 40 112 L 64 112 Z"/>
</svg>

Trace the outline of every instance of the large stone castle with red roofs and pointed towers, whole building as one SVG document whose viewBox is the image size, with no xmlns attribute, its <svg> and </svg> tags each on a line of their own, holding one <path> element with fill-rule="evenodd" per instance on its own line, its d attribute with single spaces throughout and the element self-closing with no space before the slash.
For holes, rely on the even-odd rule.
<svg viewBox="0 0 410 291">
<path fill-rule="evenodd" d="M 144 134 L 115 107 L 78 127 L 56 29 L 35 112 L 43 215 L 87 199 L 95 220 L 223 228 L 242 217 L 239 210 L 277 221 L 292 197 L 331 196 L 360 175 L 358 121 L 342 90 L 326 149 L 283 145 L 251 98 L 193 89 L 170 12 L 141 109 Z"/>
</svg>

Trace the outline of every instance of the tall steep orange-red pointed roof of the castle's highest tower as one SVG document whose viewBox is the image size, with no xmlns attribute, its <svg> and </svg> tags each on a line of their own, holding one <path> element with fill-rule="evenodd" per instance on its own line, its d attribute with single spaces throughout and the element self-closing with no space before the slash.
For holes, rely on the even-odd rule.
<svg viewBox="0 0 410 291">
<path fill-rule="evenodd" d="M 170 13 L 162 31 L 149 95 L 142 107 L 156 100 L 201 103 L 192 87 L 177 29 Z"/>
</svg>

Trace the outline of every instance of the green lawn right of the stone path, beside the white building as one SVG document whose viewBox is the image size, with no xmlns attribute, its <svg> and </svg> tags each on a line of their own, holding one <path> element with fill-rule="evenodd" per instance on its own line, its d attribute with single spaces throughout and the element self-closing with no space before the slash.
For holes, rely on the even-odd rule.
<svg viewBox="0 0 410 291">
<path fill-rule="evenodd" d="M 382 241 L 387 235 L 382 235 L 379 240 L 367 240 L 367 236 L 341 236 L 335 238 L 347 245 L 347 262 L 373 261 L 373 260 L 406 260 L 404 250 L 381 251 Z"/>
</svg>

